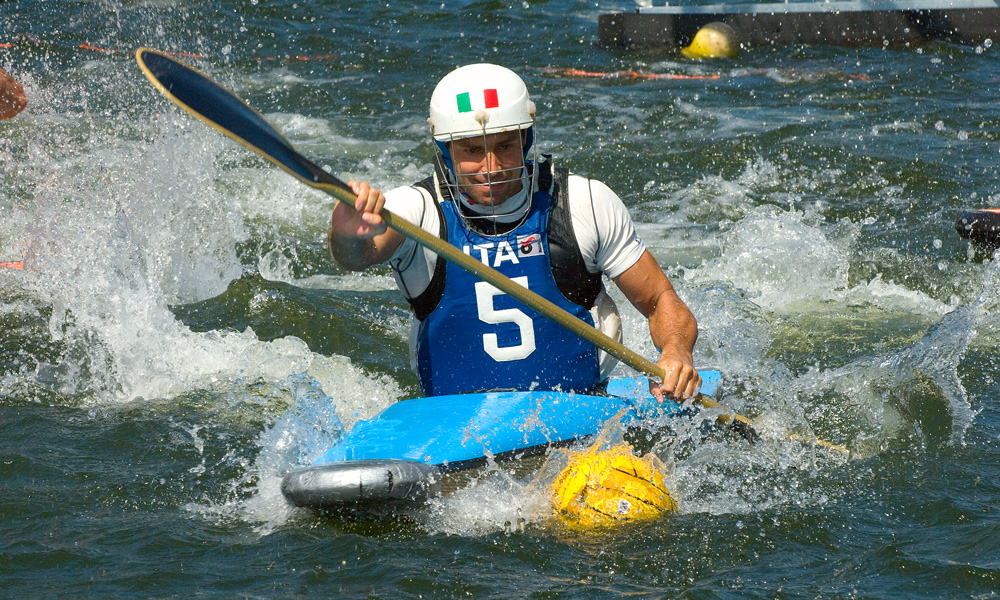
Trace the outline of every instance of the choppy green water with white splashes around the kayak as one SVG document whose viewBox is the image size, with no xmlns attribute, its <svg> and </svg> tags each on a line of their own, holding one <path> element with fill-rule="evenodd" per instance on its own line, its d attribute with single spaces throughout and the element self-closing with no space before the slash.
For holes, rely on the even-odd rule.
<svg viewBox="0 0 1000 600">
<path fill-rule="evenodd" d="M 1000 285 L 952 224 L 1000 198 L 997 52 L 598 47 L 633 7 L 0 4 L 30 102 L 0 122 L 0 260 L 25 262 L 0 272 L 4 594 L 996 596 Z M 282 474 L 418 393 L 408 310 L 387 270 L 327 258 L 328 197 L 159 96 L 140 45 L 383 187 L 427 171 L 440 76 L 516 69 L 540 148 L 632 208 L 763 442 L 674 424 L 654 451 L 680 514 L 596 535 L 502 472 L 398 521 L 292 510 Z"/>
</svg>

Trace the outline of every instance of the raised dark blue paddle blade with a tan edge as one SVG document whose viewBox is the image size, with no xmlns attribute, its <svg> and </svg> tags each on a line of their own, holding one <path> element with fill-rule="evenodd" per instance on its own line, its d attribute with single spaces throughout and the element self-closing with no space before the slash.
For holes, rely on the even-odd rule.
<svg viewBox="0 0 1000 600">
<path fill-rule="evenodd" d="M 158 50 L 139 48 L 135 58 L 149 81 L 175 104 L 303 183 L 353 204 L 355 194 L 344 182 L 299 154 L 260 113 L 235 94 Z"/>
</svg>

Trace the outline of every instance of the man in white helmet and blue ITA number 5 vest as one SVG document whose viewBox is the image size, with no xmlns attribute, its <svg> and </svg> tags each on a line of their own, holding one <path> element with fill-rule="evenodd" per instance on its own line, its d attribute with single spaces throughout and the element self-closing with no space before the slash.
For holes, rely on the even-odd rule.
<svg viewBox="0 0 1000 600">
<path fill-rule="evenodd" d="M 460 67 L 434 89 L 428 124 L 435 172 L 385 194 L 351 181 L 356 210 L 338 203 L 329 234 L 344 268 L 392 267 L 416 316 L 411 363 L 424 393 L 592 390 L 616 361 L 388 229 L 383 206 L 621 340 L 606 275 L 649 320 L 667 373 L 652 393 L 691 397 L 701 383 L 694 316 L 608 186 L 554 168 L 550 157 L 537 160 L 535 104 L 521 78 L 498 65 Z"/>
</svg>

